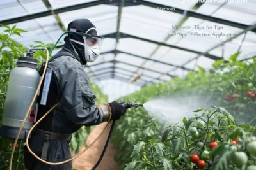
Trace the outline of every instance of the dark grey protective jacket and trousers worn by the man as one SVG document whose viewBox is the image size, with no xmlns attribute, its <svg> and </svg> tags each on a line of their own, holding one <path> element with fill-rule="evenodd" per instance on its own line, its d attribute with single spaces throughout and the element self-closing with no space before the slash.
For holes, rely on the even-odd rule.
<svg viewBox="0 0 256 170">
<path fill-rule="evenodd" d="M 68 49 L 67 45 L 63 50 L 72 53 L 73 56 L 61 56 L 49 62 L 48 66 L 52 69 L 51 85 L 46 106 L 39 105 L 37 120 L 58 101 L 61 101 L 61 104 L 50 115 L 47 115 L 36 128 L 55 133 L 71 134 L 83 125 L 100 124 L 102 116 L 100 110 L 94 105 L 95 94 L 90 87 L 88 76 L 82 64 L 76 58 L 76 53 L 72 52 L 70 48 Z M 42 94 L 42 89 L 40 94 Z M 61 162 L 70 159 L 72 155 L 69 143 L 70 141 L 66 140 L 51 139 L 47 161 Z M 31 150 L 34 150 L 38 157 L 41 157 L 43 144 L 44 139 L 37 136 L 32 136 L 29 141 Z M 72 162 L 58 166 L 50 166 L 40 162 L 28 152 L 26 146 L 24 146 L 24 159 L 28 170 L 72 169 Z"/>
</svg>

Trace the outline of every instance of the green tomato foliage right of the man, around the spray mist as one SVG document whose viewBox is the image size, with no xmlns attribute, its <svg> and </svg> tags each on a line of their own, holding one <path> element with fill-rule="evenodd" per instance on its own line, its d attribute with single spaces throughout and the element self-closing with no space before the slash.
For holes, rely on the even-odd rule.
<svg viewBox="0 0 256 170">
<path fill-rule="evenodd" d="M 166 158 L 173 166 L 172 168 L 176 169 L 195 169 L 196 165 L 191 164 L 189 160 L 190 154 L 196 152 L 200 156 L 203 150 L 209 150 L 207 146 L 212 141 L 229 144 L 230 139 L 236 136 L 244 149 L 246 134 L 252 135 L 255 132 L 250 125 L 256 124 L 254 114 L 256 97 L 250 97 L 246 92 L 256 91 L 256 59 L 252 59 L 251 62 L 239 62 L 238 57 L 239 53 L 235 53 L 230 56 L 228 62 L 217 60 L 213 64 L 213 69 L 208 72 L 202 67 L 198 67 L 198 72 L 189 72 L 185 78 L 172 78 L 167 83 L 143 87 L 139 92 L 122 97 L 121 100 L 124 101 L 146 103 L 151 99 L 168 96 L 184 98 L 191 96 L 190 99 L 193 100 L 194 94 L 196 94 L 205 103 L 221 107 L 213 107 L 211 110 L 200 108 L 195 111 L 195 117 L 183 118 L 181 120 L 183 125 L 168 125 L 166 122 L 159 122 L 156 118 L 148 115 L 143 108 L 129 111 L 116 123 L 113 134 L 113 143 L 119 151 L 116 159 L 122 164 L 120 169 L 124 169 L 125 164 L 138 160 L 146 162 L 141 169 L 167 168 L 161 164 L 160 160 L 157 160 L 158 156 L 155 157 L 156 160 L 152 160 L 152 153 L 149 152 L 152 146 L 148 145 L 148 141 L 152 140 L 161 140 L 165 146 L 161 152 L 154 152 L 153 155 L 157 154 L 162 157 L 161 159 Z M 184 103 L 186 102 L 189 101 L 184 101 Z M 201 115 L 199 115 L 200 113 Z M 198 120 L 204 121 L 205 127 L 198 128 L 200 135 L 195 139 L 192 134 L 189 134 L 189 128 L 196 127 L 195 124 Z M 247 122 L 250 125 L 242 122 Z M 232 131 L 232 129 L 236 130 Z M 137 143 L 143 141 L 145 145 L 141 148 L 141 155 L 131 158 L 134 141 Z M 197 142 L 204 143 L 204 146 L 198 148 Z M 215 157 L 214 160 L 211 160 L 212 162 L 216 163 L 219 156 L 223 155 L 224 147 L 220 146 L 217 147 L 218 152 L 217 150 L 214 150 L 216 153 L 211 152 L 211 157 L 213 157 L 212 155 Z M 156 150 L 155 147 L 154 150 Z M 143 152 L 145 153 L 143 154 Z M 161 153 L 164 154 L 161 155 Z M 211 161 L 210 166 L 212 165 Z M 229 164 L 230 155 L 224 155 L 223 161 L 218 165 L 217 163 L 213 165 L 221 168 L 221 165 Z M 154 167 L 154 162 L 156 167 Z M 205 168 L 210 168 L 210 166 L 207 165 Z M 214 169 L 214 167 L 212 168 Z"/>
</svg>

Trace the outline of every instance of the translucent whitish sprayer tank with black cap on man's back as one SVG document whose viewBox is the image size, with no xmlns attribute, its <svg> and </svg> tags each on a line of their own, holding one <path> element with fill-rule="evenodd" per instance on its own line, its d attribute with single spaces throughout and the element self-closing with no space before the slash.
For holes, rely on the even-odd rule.
<svg viewBox="0 0 256 170">
<path fill-rule="evenodd" d="M 12 69 L 8 83 L 8 90 L 4 104 L 2 125 L 10 130 L 19 128 L 22 124 L 29 105 L 35 96 L 40 76 L 36 68 L 38 60 L 31 57 L 19 57 L 17 67 Z M 36 116 L 36 100 L 33 103 L 29 116 L 24 124 L 24 129 L 30 129 Z M 6 132 L 8 133 L 8 132 Z M 14 131 L 6 134 L 12 138 Z M 6 136 L 4 135 L 4 136 Z"/>
</svg>

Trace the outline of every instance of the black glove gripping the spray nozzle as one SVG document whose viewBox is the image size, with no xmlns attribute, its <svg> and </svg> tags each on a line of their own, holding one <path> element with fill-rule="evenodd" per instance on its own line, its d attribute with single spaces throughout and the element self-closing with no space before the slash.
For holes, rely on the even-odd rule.
<svg viewBox="0 0 256 170">
<path fill-rule="evenodd" d="M 112 111 L 112 116 L 111 116 L 111 120 L 118 120 L 120 119 L 120 117 L 122 115 L 124 115 L 124 113 L 126 113 L 127 108 L 125 108 L 122 104 L 113 101 L 111 103 L 109 103 L 109 106 L 111 108 Z"/>
</svg>

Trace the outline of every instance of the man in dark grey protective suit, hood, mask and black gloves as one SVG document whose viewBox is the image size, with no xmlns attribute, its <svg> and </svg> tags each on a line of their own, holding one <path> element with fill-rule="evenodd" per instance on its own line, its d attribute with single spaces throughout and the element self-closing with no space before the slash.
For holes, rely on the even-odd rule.
<svg viewBox="0 0 256 170">
<path fill-rule="evenodd" d="M 97 35 L 95 25 L 89 20 L 78 19 L 68 24 L 68 36 L 63 48 L 49 60 L 48 68 L 51 83 L 46 104 L 39 104 L 37 120 L 54 104 L 61 101 L 47 117 L 36 127 L 29 139 L 33 152 L 48 162 L 62 162 L 72 157 L 70 139 L 83 125 L 98 125 L 108 120 L 118 120 L 126 112 L 126 108 L 116 101 L 95 105 L 89 78 L 83 65 L 93 62 L 100 55 L 103 38 Z M 42 70 L 44 64 L 40 69 Z M 45 80 L 44 80 L 45 81 Z M 44 85 L 43 81 L 43 85 Z M 43 86 L 38 103 L 42 101 Z M 44 164 L 28 152 L 24 146 L 25 166 L 28 170 L 40 169 L 72 169 L 72 162 L 58 166 Z"/>
</svg>

